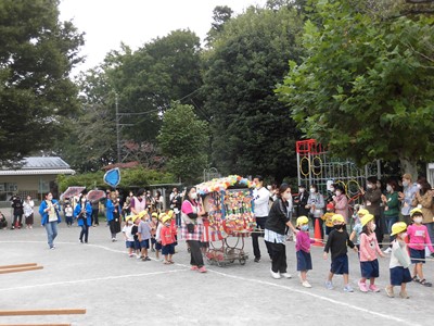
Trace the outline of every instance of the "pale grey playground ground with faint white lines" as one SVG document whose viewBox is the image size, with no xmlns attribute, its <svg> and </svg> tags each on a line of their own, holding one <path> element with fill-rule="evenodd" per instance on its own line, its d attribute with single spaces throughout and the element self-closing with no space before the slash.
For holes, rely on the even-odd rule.
<svg viewBox="0 0 434 326">
<path fill-rule="evenodd" d="M 105 223 L 90 229 L 89 244 L 78 241 L 79 228 L 60 224 L 56 249 L 49 250 L 46 231 L 0 230 L 0 265 L 37 263 L 42 269 L 0 274 L 0 310 L 86 309 L 81 315 L 1 316 L 0 325 L 431 325 L 434 288 L 410 284 L 410 299 L 387 298 L 388 258 L 380 259 L 380 293 L 357 290 L 359 264 L 349 255 L 350 284 L 343 291 L 342 277 L 335 288 L 323 287 L 330 262 L 322 249 L 312 248 L 312 288 L 301 286 L 295 272 L 294 243 L 288 242 L 292 279 L 272 279 L 270 262 L 252 258 L 225 267 L 208 265 L 208 273 L 189 268 L 186 243 L 180 242 L 176 264 L 154 259 L 142 262 L 126 254 L 125 243 L 112 242 Z M 120 239 L 120 237 L 118 237 Z M 265 246 L 263 244 L 263 253 Z M 424 267 L 434 280 L 434 262 Z"/>
</svg>

